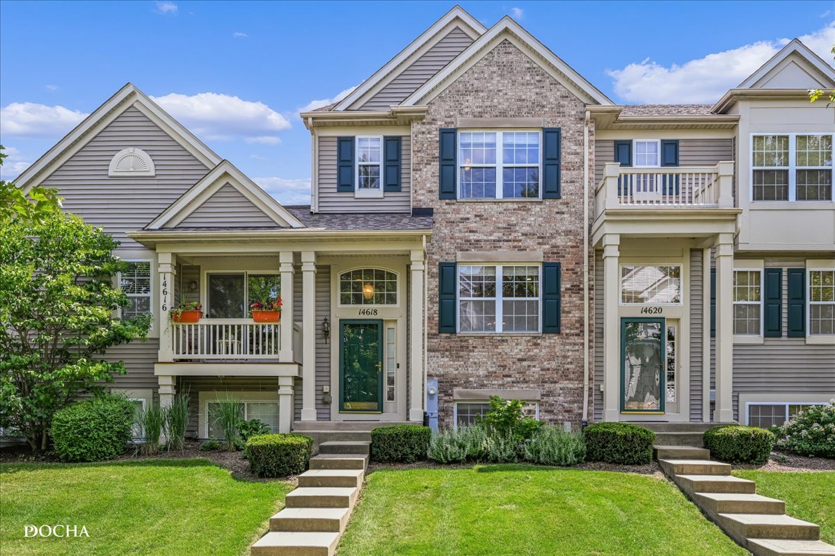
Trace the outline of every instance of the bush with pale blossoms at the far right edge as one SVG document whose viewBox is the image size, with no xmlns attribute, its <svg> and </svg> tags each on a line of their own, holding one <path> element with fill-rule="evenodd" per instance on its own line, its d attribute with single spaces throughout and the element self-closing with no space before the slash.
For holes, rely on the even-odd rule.
<svg viewBox="0 0 835 556">
<path fill-rule="evenodd" d="M 835 458 L 835 400 L 797 413 L 777 433 L 777 446 L 802 456 Z"/>
</svg>

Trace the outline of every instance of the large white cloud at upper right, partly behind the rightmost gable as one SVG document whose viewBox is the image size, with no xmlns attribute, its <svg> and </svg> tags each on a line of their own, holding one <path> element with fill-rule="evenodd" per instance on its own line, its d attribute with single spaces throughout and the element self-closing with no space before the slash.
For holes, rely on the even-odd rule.
<svg viewBox="0 0 835 556">
<path fill-rule="evenodd" d="M 832 63 L 835 22 L 800 40 L 818 56 Z M 715 103 L 788 43 L 788 39 L 758 41 L 721 53 L 708 54 L 669 68 L 646 58 L 606 73 L 615 80 L 615 93 L 631 103 Z"/>
</svg>

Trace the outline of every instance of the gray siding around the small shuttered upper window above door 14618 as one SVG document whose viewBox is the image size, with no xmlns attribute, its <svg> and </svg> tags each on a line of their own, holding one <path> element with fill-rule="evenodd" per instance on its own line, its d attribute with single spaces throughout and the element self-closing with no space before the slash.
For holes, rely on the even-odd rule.
<svg viewBox="0 0 835 556">
<path fill-rule="evenodd" d="M 382 198 L 354 198 L 353 192 L 337 192 L 337 138 L 319 138 L 316 178 L 320 213 L 408 213 L 412 210 L 412 138 L 401 138 L 400 191 Z"/>
</svg>

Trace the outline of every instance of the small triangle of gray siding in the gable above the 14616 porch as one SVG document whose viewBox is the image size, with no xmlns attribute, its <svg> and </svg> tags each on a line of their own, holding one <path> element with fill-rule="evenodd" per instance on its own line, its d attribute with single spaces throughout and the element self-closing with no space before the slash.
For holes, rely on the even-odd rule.
<svg viewBox="0 0 835 556">
<path fill-rule="evenodd" d="M 276 226 L 276 223 L 230 183 L 218 189 L 177 224 L 177 228 L 248 226 Z"/>
</svg>

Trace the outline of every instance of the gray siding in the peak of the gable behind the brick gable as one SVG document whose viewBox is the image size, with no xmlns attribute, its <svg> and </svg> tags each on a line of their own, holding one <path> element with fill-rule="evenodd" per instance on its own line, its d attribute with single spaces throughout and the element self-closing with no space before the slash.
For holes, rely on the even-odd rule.
<svg viewBox="0 0 835 556">
<path fill-rule="evenodd" d="M 357 109 L 386 110 L 402 103 L 472 43 L 467 33 L 454 28 Z"/>
</svg>

